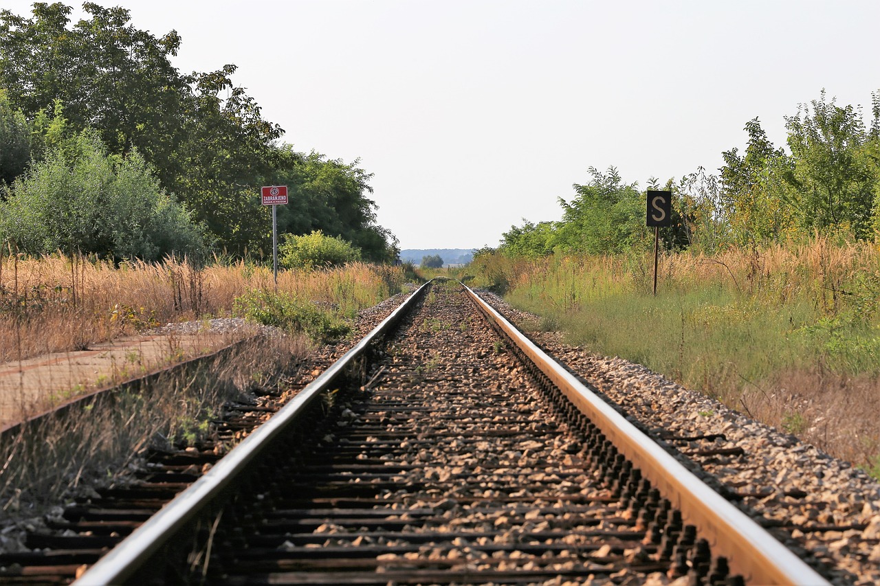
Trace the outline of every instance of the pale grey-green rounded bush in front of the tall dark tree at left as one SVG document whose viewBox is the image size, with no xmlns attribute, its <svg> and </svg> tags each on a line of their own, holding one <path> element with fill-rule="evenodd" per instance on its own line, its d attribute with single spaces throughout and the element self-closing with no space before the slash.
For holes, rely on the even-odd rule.
<svg viewBox="0 0 880 586">
<path fill-rule="evenodd" d="M 201 253 L 202 234 L 133 150 L 109 156 L 85 132 L 48 151 L 0 202 L 0 240 L 32 254 L 81 251 L 117 260 Z"/>
</svg>

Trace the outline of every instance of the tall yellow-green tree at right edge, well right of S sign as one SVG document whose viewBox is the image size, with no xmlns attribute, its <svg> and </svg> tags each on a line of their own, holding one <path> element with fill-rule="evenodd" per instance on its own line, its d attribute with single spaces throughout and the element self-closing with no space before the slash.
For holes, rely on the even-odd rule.
<svg viewBox="0 0 880 586">
<path fill-rule="evenodd" d="M 814 232 L 871 238 L 880 193 L 880 92 L 873 121 L 837 106 L 825 91 L 786 117 L 787 154 L 775 149 L 757 118 L 745 125 L 745 154 L 723 153 L 724 218 L 732 244 L 809 238 Z M 873 215 L 873 216 L 872 216 Z"/>
</svg>

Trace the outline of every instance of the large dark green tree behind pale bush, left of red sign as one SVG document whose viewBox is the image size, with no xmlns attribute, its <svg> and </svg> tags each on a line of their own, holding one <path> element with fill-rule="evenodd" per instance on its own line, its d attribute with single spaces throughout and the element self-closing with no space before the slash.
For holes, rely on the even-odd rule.
<svg viewBox="0 0 880 586">
<path fill-rule="evenodd" d="M 231 82 L 234 65 L 182 76 L 170 62 L 172 31 L 157 38 L 129 24 L 129 12 L 37 3 L 32 18 L 0 12 L 0 87 L 36 117 L 62 103 L 80 132 L 97 131 L 111 154 L 138 150 L 162 187 L 195 210 L 219 245 L 244 253 L 267 241 L 256 195 L 282 135 Z M 223 97 L 221 97 L 223 96 Z"/>
</svg>

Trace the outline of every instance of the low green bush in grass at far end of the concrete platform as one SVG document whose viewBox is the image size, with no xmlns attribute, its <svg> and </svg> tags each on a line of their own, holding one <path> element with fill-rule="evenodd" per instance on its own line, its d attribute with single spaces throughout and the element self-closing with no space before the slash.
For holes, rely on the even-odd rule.
<svg viewBox="0 0 880 586">
<path fill-rule="evenodd" d="M 264 326 L 275 326 L 288 332 L 302 332 L 312 341 L 336 341 L 351 327 L 330 311 L 323 311 L 311 302 L 298 301 L 286 293 L 253 290 L 236 297 L 233 311 Z"/>
</svg>

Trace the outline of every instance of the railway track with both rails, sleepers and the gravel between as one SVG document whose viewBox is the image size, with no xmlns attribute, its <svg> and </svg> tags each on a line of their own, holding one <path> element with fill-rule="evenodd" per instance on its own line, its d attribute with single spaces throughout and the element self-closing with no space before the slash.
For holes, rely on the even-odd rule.
<svg viewBox="0 0 880 586">
<path fill-rule="evenodd" d="M 226 458 L 65 511 L 41 544 L 61 571 L 0 580 L 825 582 L 459 289 L 423 289 Z"/>
</svg>

